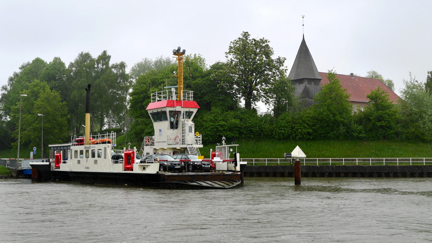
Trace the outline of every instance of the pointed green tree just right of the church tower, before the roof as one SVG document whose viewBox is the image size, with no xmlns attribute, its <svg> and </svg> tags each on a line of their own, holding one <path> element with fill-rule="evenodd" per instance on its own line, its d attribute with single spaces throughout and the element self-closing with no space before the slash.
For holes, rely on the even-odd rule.
<svg viewBox="0 0 432 243">
<path fill-rule="evenodd" d="M 353 106 L 349 103 L 349 94 L 342 89 L 336 72 L 329 70 L 329 82 L 322 86 L 320 93 L 314 97 L 316 102 L 307 111 L 313 121 L 312 131 L 318 139 L 340 139 L 346 136 Z"/>
</svg>

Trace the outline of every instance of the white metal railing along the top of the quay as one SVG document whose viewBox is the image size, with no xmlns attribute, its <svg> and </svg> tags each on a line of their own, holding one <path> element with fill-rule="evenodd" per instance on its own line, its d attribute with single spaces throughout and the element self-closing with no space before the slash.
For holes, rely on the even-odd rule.
<svg viewBox="0 0 432 243">
<path fill-rule="evenodd" d="M 361 165 L 365 163 L 369 163 L 369 165 L 386 165 L 386 163 L 387 165 L 394 165 L 394 163 L 396 163 L 396 165 L 399 165 L 399 163 L 401 165 L 407 165 L 407 163 L 410 163 L 410 165 L 412 165 L 413 163 L 423 163 L 423 165 L 426 165 L 426 163 L 432 164 L 432 158 L 303 158 L 299 160 L 303 165 L 331 165 L 332 163 L 334 165 L 359 165 L 359 163 Z M 278 165 L 280 165 L 281 163 L 291 164 L 293 162 L 293 159 L 292 161 L 286 161 L 284 158 L 245 158 L 240 159 L 240 161 L 252 163 L 252 165 L 255 165 L 255 163 L 265 163 L 265 165 L 267 165 L 267 163 L 277 163 Z"/>
</svg>

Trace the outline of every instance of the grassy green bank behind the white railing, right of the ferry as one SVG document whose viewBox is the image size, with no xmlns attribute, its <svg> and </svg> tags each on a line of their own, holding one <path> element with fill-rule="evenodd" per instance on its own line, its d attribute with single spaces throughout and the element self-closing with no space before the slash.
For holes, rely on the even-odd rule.
<svg viewBox="0 0 432 243">
<path fill-rule="evenodd" d="M 231 144 L 232 141 L 226 141 Z M 432 157 L 432 143 L 397 141 L 236 141 L 242 158 L 283 158 L 299 146 L 308 158 L 380 158 L 380 157 Z M 210 157 L 216 144 L 204 145 L 200 152 Z"/>
</svg>

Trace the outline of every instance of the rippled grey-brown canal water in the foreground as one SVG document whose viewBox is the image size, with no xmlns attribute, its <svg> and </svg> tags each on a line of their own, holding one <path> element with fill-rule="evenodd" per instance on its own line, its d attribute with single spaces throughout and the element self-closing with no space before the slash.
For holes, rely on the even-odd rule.
<svg viewBox="0 0 432 243">
<path fill-rule="evenodd" d="M 157 190 L 0 179 L 0 242 L 432 241 L 432 178 L 245 180 Z"/>
</svg>

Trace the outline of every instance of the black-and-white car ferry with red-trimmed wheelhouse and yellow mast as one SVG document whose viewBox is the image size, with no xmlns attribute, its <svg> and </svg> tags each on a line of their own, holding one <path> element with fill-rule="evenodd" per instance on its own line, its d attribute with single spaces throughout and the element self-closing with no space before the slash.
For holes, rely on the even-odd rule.
<svg viewBox="0 0 432 243">
<path fill-rule="evenodd" d="M 193 92 L 183 90 L 183 61 L 185 50 L 173 50 L 178 61 L 178 86 L 151 94 L 146 110 L 152 119 L 155 135 L 144 137 L 136 147 L 114 150 L 116 133 L 90 134 L 90 84 L 86 88 L 85 136 L 71 137 L 70 143 L 51 144 L 50 160 L 30 163 L 32 181 L 64 181 L 101 185 L 120 185 L 148 188 L 229 189 L 243 184 L 246 163 L 240 163 L 238 144 L 222 144 L 210 150 L 211 158 L 200 155 L 202 135 L 195 132 L 192 119 L 200 108 L 193 100 Z M 177 92 L 176 89 L 177 88 Z M 170 90 L 168 90 L 170 89 Z M 235 152 L 233 151 L 235 147 Z M 231 152 L 234 152 L 231 154 Z M 113 160 L 111 154 L 121 153 L 123 160 Z M 143 159 L 137 160 L 136 154 Z M 188 153 L 197 160 L 159 160 L 158 154 Z M 231 157 L 232 156 L 232 157 Z M 150 157 L 154 159 L 149 159 Z M 147 159 L 146 159 L 147 158 Z M 188 171 L 188 163 L 210 162 L 210 171 Z M 164 171 L 164 163 L 184 170 Z M 168 170 L 169 166 L 166 166 Z"/>
</svg>

